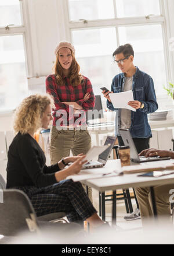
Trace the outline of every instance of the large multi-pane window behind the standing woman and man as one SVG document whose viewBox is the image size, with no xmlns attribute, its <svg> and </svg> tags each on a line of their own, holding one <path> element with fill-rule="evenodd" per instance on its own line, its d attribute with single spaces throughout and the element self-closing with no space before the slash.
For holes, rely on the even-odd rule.
<svg viewBox="0 0 174 256">
<path fill-rule="evenodd" d="M 160 0 L 67 0 L 70 38 L 81 73 L 91 80 L 95 94 L 110 88 L 120 71 L 112 54 L 125 43 L 135 51 L 134 64 L 152 76 L 157 96 L 169 80 L 165 19 Z"/>
</svg>

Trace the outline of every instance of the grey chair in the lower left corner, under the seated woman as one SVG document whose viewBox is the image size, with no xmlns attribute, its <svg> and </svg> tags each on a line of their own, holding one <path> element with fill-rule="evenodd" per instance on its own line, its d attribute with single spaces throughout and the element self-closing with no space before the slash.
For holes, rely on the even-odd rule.
<svg viewBox="0 0 174 256">
<path fill-rule="evenodd" d="M 6 189 L 3 193 L 3 202 L 0 204 L 0 234 L 3 236 L 18 236 L 21 232 L 42 233 L 42 230 L 56 230 L 57 234 L 72 235 L 79 232 L 77 223 L 50 223 L 39 221 L 30 199 L 20 190 Z M 2 197 L 1 197 L 2 198 Z"/>
</svg>

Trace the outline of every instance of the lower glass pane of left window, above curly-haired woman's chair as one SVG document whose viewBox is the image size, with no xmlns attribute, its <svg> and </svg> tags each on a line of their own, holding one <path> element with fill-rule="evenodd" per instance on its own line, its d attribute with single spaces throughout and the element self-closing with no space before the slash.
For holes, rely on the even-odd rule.
<svg viewBox="0 0 174 256">
<path fill-rule="evenodd" d="M 0 55 L 0 110 L 9 110 L 28 93 L 23 36 L 1 36 Z"/>
</svg>

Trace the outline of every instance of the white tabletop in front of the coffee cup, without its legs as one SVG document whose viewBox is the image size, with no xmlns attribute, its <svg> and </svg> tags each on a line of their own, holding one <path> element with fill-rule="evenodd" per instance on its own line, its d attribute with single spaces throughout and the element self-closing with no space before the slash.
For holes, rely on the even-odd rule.
<svg viewBox="0 0 174 256">
<path fill-rule="evenodd" d="M 173 160 L 171 160 L 173 162 Z M 164 161 L 161 161 L 161 164 Z M 108 172 L 116 169 L 116 166 L 120 166 L 120 160 L 108 160 L 106 166 L 103 168 Z M 103 169 L 100 168 L 100 169 Z M 99 168 L 97 168 L 99 170 Z M 97 171 L 96 169 L 96 171 Z M 95 172 L 95 169 L 90 169 L 90 173 Z M 135 187 L 154 187 L 155 185 L 173 184 L 174 189 L 174 173 L 166 176 L 154 178 L 154 177 L 138 177 L 140 173 L 136 174 L 124 174 L 123 176 L 114 177 L 102 177 L 92 180 L 83 181 L 84 184 L 95 188 L 100 192 L 107 190 L 117 190 L 120 188 L 135 188 Z"/>
</svg>

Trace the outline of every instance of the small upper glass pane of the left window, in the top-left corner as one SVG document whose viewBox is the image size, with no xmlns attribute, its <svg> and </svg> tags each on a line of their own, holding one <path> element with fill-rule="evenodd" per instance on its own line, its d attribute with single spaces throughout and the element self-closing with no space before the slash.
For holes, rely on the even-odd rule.
<svg viewBox="0 0 174 256">
<path fill-rule="evenodd" d="M 5 27 L 9 24 L 21 25 L 19 0 L 0 1 L 0 27 Z"/>
</svg>

